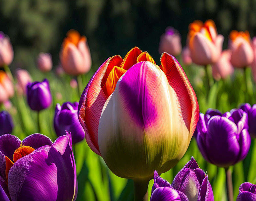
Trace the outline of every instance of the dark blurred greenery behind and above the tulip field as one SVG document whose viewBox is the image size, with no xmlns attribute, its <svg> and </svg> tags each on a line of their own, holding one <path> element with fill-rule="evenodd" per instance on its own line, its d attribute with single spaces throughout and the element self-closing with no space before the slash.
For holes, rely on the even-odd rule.
<svg viewBox="0 0 256 201">
<path fill-rule="evenodd" d="M 188 25 L 213 19 L 224 35 L 232 29 L 256 35 L 256 0 L 0 0 L 0 30 L 9 35 L 17 67 L 34 68 L 39 52 L 57 65 L 63 38 L 76 29 L 88 39 L 93 68 L 134 46 L 157 61 L 159 37 L 167 26 L 179 30 L 185 45 Z"/>
</svg>

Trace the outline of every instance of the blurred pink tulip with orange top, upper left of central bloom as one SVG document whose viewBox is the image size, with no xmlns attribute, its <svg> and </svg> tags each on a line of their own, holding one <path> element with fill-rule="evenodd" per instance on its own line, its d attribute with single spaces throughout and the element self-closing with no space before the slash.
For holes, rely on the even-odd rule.
<svg viewBox="0 0 256 201">
<path fill-rule="evenodd" d="M 85 36 L 71 29 L 63 40 L 59 53 L 61 65 L 70 75 L 84 74 L 91 69 L 91 53 Z"/>
</svg>

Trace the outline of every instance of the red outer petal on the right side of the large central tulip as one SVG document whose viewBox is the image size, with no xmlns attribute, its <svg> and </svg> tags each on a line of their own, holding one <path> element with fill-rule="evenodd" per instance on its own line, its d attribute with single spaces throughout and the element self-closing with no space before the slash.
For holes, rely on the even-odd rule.
<svg viewBox="0 0 256 201">
<path fill-rule="evenodd" d="M 175 57 L 168 53 L 161 56 L 163 71 L 178 96 L 181 105 L 181 115 L 192 137 L 199 119 L 199 106 L 195 91 Z"/>
</svg>

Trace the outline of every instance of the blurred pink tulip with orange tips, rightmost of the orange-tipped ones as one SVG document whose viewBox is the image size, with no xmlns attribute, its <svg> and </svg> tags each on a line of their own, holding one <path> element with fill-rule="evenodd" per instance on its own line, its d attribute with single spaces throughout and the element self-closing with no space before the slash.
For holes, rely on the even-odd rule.
<svg viewBox="0 0 256 201">
<path fill-rule="evenodd" d="M 253 62 L 253 49 L 248 31 L 231 31 L 228 46 L 232 51 L 231 63 L 234 67 L 243 68 L 251 65 Z"/>
</svg>

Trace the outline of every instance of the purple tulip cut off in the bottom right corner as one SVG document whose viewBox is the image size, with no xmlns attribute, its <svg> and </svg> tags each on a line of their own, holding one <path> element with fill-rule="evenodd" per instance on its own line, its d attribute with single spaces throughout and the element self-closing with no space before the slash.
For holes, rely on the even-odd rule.
<svg viewBox="0 0 256 201">
<path fill-rule="evenodd" d="M 256 200 L 256 185 L 249 182 L 241 184 L 237 201 L 255 201 Z"/>
</svg>

